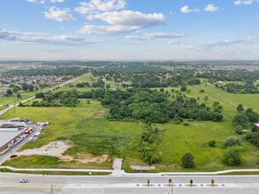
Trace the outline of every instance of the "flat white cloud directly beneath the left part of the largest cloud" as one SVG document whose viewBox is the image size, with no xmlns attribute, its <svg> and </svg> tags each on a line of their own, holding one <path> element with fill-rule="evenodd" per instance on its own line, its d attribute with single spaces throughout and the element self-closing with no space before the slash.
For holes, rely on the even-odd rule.
<svg viewBox="0 0 259 194">
<path fill-rule="evenodd" d="M 133 33 L 138 28 L 133 26 L 83 26 L 78 33 L 80 34 L 100 34 L 100 35 L 120 35 Z"/>
</svg>

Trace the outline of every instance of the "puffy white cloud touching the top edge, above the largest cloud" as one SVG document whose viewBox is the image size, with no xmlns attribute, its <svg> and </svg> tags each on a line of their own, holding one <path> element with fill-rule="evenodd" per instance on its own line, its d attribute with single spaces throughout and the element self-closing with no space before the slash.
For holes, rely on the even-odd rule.
<svg viewBox="0 0 259 194">
<path fill-rule="evenodd" d="M 90 2 L 80 2 L 80 6 L 75 11 L 81 14 L 96 13 L 96 11 L 114 11 L 125 8 L 125 0 L 91 0 Z"/>
</svg>

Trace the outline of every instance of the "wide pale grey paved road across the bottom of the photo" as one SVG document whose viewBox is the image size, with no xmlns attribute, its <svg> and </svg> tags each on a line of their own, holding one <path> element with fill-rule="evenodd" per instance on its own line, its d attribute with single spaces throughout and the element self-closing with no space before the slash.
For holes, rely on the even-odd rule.
<svg viewBox="0 0 259 194">
<path fill-rule="evenodd" d="M 19 183 L 27 177 L 29 183 Z M 20 175 L 0 173 L 0 193 L 91 193 L 91 194 L 168 194 L 171 187 L 164 186 L 171 178 L 175 193 L 258 193 L 259 175 L 180 175 L 168 177 L 112 177 L 108 176 L 65 176 L 65 175 Z M 219 186 L 209 187 L 211 179 Z M 143 186 L 147 180 L 153 185 Z M 195 187 L 185 186 L 193 179 Z M 201 183 L 203 186 L 201 186 Z M 222 186 L 224 183 L 224 186 Z M 139 184 L 139 186 L 137 185 Z M 160 184 L 160 186 L 158 186 Z M 180 187 L 179 184 L 182 184 Z M 52 186 L 51 186 L 52 185 Z"/>
</svg>

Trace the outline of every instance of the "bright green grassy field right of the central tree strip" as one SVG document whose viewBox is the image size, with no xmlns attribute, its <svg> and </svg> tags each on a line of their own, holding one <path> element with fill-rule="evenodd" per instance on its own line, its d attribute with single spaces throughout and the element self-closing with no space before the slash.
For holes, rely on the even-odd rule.
<svg viewBox="0 0 259 194">
<path fill-rule="evenodd" d="M 158 91 L 160 88 L 156 88 Z M 164 91 L 171 93 L 171 87 L 164 88 Z M 179 90 L 179 88 L 174 88 Z M 226 93 L 215 86 L 187 86 L 191 93 L 186 93 L 188 97 L 199 96 L 202 103 L 206 95 L 209 96 L 209 101 L 206 105 L 212 108 L 214 101 L 219 101 L 223 106 L 224 121 L 216 122 L 202 122 L 193 121 L 188 122 L 189 126 L 184 126 L 183 123 L 165 123 L 156 124 L 159 131 L 163 131 L 162 142 L 158 147 L 161 162 L 156 165 L 156 170 L 150 172 L 161 171 L 187 171 L 182 168 L 179 163 L 184 153 L 192 153 L 194 155 L 195 168 L 190 171 L 215 171 L 222 170 L 225 167 L 223 164 L 223 143 L 225 138 L 229 136 L 237 136 L 234 132 L 235 127 L 232 126 L 232 119 L 237 114 L 235 109 L 238 104 L 243 104 L 244 108 L 254 108 L 255 112 L 259 113 L 259 94 L 236 94 Z M 204 93 L 200 90 L 204 89 Z M 177 95 L 177 93 L 171 93 Z M 249 129 L 249 128 L 248 128 Z M 208 145 L 210 140 L 215 139 L 217 146 L 212 148 Z M 259 168 L 256 164 L 258 162 L 258 149 L 248 142 L 244 142 L 242 151 L 242 166 L 237 168 Z M 136 155 L 135 155 L 136 156 Z M 147 165 L 137 157 L 127 157 L 123 167 L 130 171 L 129 165 Z"/>
</svg>

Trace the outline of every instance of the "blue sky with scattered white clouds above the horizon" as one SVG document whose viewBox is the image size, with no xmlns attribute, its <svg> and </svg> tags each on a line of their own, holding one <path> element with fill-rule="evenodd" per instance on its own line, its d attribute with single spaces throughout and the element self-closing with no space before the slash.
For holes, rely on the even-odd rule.
<svg viewBox="0 0 259 194">
<path fill-rule="evenodd" d="M 259 60 L 259 0 L 0 0 L 0 60 Z"/>
</svg>

